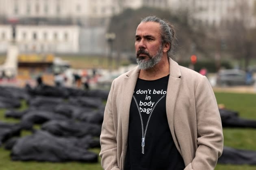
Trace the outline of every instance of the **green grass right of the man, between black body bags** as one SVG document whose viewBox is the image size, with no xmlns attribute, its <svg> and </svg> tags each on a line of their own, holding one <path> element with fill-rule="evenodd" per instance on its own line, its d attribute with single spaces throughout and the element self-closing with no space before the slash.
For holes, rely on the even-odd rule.
<svg viewBox="0 0 256 170">
<path fill-rule="evenodd" d="M 256 120 L 256 94 L 215 93 L 218 104 L 236 110 L 239 116 Z M 256 151 L 256 129 L 224 128 L 224 146 Z M 256 166 L 217 164 L 215 170 L 255 170 Z"/>
</svg>

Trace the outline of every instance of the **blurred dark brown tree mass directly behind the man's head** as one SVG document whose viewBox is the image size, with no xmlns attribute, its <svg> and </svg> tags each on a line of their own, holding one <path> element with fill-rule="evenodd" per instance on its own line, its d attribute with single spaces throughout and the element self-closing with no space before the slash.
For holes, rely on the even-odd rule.
<svg viewBox="0 0 256 170">
<path fill-rule="evenodd" d="M 188 13 L 179 11 L 178 14 L 170 13 L 170 11 L 160 10 L 158 8 L 142 7 L 137 10 L 126 9 L 118 16 L 113 16 L 108 28 L 108 32 L 115 32 L 116 40 L 114 49 L 120 53 L 134 53 L 135 30 L 140 19 L 148 15 L 156 15 L 160 18 L 167 19 L 174 24 L 176 28 L 176 48 L 172 47 L 177 55 L 181 56 L 180 60 L 189 60 L 192 44 L 195 45 L 196 51 L 206 53 L 204 48 L 204 29 L 193 29 L 187 21 Z M 135 57 L 135 56 L 134 56 Z"/>
</svg>

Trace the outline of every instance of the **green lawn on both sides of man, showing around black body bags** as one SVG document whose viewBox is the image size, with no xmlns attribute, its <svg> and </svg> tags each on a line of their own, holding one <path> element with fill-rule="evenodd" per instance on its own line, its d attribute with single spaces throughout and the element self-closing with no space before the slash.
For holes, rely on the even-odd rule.
<svg viewBox="0 0 256 170">
<path fill-rule="evenodd" d="M 230 110 L 239 111 L 240 116 L 247 119 L 256 119 L 256 95 L 255 94 L 232 94 L 232 93 L 215 93 L 218 104 L 225 104 Z M 25 102 L 22 102 L 20 109 L 26 108 Z M 4 117 L 5 109 L 0 109 L 1 121 L 17 121 L 15 119 Z M 40 128 L 39 125 L 35 125 Z M 29 131 L 23 131 L 22 136 L 30 134 Z M 250 149 L 256 151 L 256 129 L 223 129 L 224 145 L 238 149 Z M 92 149 L 93 152 L 99 153 L 100 149 Z M 0 147 L 0 170 L 102 170 L 99 162 L 96 164 L 66 162 L 50 163 L 35 161 L 11 161 L 10 151 Z M 217 164 L 215 170 L 255 170 L 256 166 L 236 166 Z"/>
</svg>

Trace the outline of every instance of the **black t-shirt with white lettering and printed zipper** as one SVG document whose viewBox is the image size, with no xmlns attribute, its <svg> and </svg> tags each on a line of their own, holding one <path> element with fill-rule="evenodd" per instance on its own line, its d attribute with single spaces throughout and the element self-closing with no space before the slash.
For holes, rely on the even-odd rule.
<svg viewBox="0 0 256 170">
<path fill-rule="evenodd" d="M 169 75 L 154 81 L 137 80 L 130 105 L 125 170 L 183 170 L 166 115 Z"/>
</svg>

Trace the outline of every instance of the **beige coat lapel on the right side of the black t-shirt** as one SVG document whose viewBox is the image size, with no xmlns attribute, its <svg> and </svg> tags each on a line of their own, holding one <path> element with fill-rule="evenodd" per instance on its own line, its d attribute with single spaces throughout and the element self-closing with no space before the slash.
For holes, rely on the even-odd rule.
<svg viewBox="0 0 256 170">
<path fill-rule="evenodd" d="M 166 94 L 166 114 L 168 119 L 168 124 L 171 130 L 171 135 L 176 145 L 178 151 L 180 151 L 180 147 L 178 146 L 178 141 L 176 139 L 176 135 L 174 132 L 174 109 L 176 104 L 176 99 L 178 96 L 178 92 L 180 89 L 180 68 L 179 65 L 174 62 L 174 60 L 169 59 L 169 66 L 170 66 L 170 76 L 168 81 L 167 87 L 167 94 Z"/>
</svg>

